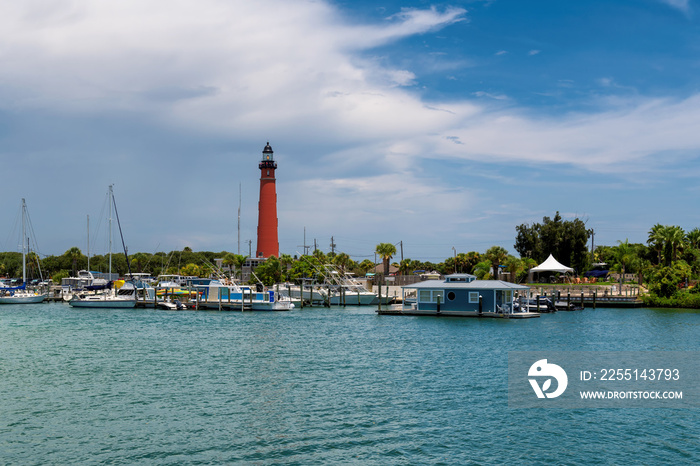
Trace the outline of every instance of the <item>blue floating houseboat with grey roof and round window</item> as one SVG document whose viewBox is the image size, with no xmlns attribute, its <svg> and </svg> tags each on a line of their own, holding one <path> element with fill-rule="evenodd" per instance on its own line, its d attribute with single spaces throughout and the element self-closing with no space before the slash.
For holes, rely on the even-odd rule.
<svg viewBox="0 0 700 466">
<path fill-rule="evenodd" d="M 415 300 L 404 299 L 400 309 L 380 314 L 439 315 L 454 317 L 539 317 L 537 312 L 514 309 L 514 298 L 526 295 L 529 287 L 501 280 L 477 280 L 474 275 L 452 274 L 444 280 L 426 280 L 401 287 L 415 290 Z"/>
</svg>

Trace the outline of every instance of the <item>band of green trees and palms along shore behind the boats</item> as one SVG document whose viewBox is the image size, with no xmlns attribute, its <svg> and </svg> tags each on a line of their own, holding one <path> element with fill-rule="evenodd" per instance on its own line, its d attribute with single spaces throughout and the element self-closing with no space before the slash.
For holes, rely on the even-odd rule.
<svg viewBox="0 0 700 466">
<path fill-rule="evenodd" d="M 615 246 L 596 246 L 593 251 L 588 242 L 594 231 L 576 218 L 563 220 L 559 212 L 553 218 L 544 217 L 542 223 L 522 224 L 515 227 L 514 249 L 520 257 L 508 253 L 501 246 L 492 246 L 485 252 L 458 252 L 439 263 L 396 258 L 396 243 L 379 243 L 374 251 L 379 262 L 364 259 L 354 261 L 347 253 L 325 253 L 320 249 L 301 257 L 280 254 L 270 257 L 255 268 L 255 277 L 265 285 L 304 279 L 324 278 L 320 270 L 324 264 L 333 264 L 340 272 L 356 276 L 371 276 L 375 283 L 386 282 L 389 277 L 417 275 L 420 272 L 470 273 L 478 279 L 499 279 L 530 286 L 549 286 L 550 282 L 576 281 L 576 287 L 608 285 L 618 287 L 638 286 L 638 297 L 649 307 L 700 309 L 700 229 L 685 232 L 679 226 L 656 224 L 650 228 L 646 244 L 618 241 Z M 402 248 L 403 250 L 403 248 Z M 533 277 L 530 269 L 552 254 L 559 262 L 574 268 L 573 275 L 544 272 Z M 112 255 L 112 270 L 120 276 L 129 271 L 160 274 L 180 274 L 208 277 L 227 274 L 241 278 L 244 267 L 249 266 L 245 255 L 227 251 L 195 252 L 185 247 L 169 253 L 135 253 L 127 257 Z M 89 268 L 106 271 L 107 255 L 91 255 Z M 72 247 L 59 256 L 30 252 L 27 255 L 27 274 L 32 278 L 50 277 L 60 283 L 64 277 L 75 276 L 78 270 L 88 268 L 88 258 L 78 247 Z M 19 252 L 0 253 L 0 276 L 21 275 L 22 258 Z M 586 283 L 585 272 L 605 271 L 598 282 Z M 19 274 L 19 275 L 18 275 Z M 611 278 L 615 280 L 612 281 Z M 539 281 L 540 283 L 536 283 Z"/>
</svg>

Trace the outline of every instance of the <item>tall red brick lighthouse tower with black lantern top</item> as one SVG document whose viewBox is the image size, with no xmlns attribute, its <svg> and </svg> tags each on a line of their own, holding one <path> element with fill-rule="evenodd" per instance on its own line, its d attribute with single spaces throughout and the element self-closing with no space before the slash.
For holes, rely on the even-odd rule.
<svg viewBox="0 0 700 466">
<path fill-rule="evenodd" d="M 258 246 L 256 257 L 279 257 L 277 239 L 277 190 L 275 188 L 275 162 L 272 147 L 268 142 L 263 149 L 260 168 L 260 202 L 258 203 Z"/>
</svg>

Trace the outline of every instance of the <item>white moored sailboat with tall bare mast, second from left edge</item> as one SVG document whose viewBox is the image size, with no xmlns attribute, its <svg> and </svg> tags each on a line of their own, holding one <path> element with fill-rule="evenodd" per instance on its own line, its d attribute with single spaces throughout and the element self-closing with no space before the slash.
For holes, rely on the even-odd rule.
<svg viewBox="0 0 700 466">
<path fill-rule="evenodd" d="M 108 200 L 109 203 L 109 276 L 112 276 L 112 207 L 115 213 L 117 204 L 114 202 L 114 191 L 112 185 L 109 185 Z M 119 222 L 119 214 L 117 213 L 117 222 Z M 121 226 L 119 227 L 121 235 Z M 122 236 L 122 245 L 124 245 L 124 237 Z M 124 248 L 126 255 L 126 247 Z M 129 258 L 127 256 L 127 264 Z M 110 282 L 110 288 L 100 293 L 76 293 L 68 301 L 73 307 L 92 307 L 92 308 L 133 308 L 136 306 L 136 287 L 133 283 L 118 280 Z"/>
</svg>

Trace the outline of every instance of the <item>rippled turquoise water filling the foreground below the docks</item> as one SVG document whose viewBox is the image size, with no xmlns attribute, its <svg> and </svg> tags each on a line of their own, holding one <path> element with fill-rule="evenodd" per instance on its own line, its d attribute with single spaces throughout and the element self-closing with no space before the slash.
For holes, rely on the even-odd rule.
<svg viewBox="0 0 700 466">
<path fill-rule="evenodd" d="M 0 307 L 3 464 L 700 463 L 693 409 L 510 409 L 515 350 L 698 350 L 700 314 Z"/>
</svg>

